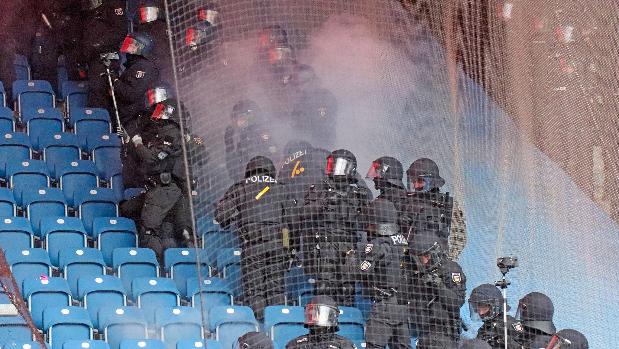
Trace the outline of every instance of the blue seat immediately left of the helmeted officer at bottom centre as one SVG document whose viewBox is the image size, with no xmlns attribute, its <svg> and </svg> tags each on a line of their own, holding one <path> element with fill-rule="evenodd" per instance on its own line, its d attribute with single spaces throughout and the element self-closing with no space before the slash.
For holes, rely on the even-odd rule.
<svg viewBox="0 0 619 349">
<path fill-rule="evenodd" d="M 264 309 L 264 330 L 280 348 L 284 348 L 292 338 L 309 333 L 303 327 L 304 321 L 303 307 L 267 306 Z"/>
</svg>

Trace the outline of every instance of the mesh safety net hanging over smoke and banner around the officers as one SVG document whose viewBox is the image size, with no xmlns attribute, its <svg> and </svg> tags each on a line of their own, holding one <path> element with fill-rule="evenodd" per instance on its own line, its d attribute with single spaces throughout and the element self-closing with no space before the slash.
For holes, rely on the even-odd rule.
<svg viewBox="0 0 619 349">
<path fill-rule="evenodd" d="M 197 50 L 186 45 L 186 34 L 206 3 L 167 2 L 178 93 L 191 113 L 184 127 L 209 152 L 206 164 L 196 158 L 204 154 L 188 158 L 197 181 L 196 231 L 222 275 L 246 273 L 249 252 L 240 254 L 243 268 L 233 268 L 239 254 L 230 249 L 247 237 L 238 221 L 223 229 L 213 212 L 245 179 L 251 157 L 269 157 L 281 182 L 305 171 L 290 165 L 300 156 L 290 141 L 326 149 L 312 153 L 323 160 L 348 149 L 361 175 L 381 156 L 396 157 L 404 170 L 427 157 L 440 169 L 441 192 L 454 198 L 447 258 L 461 265 L 467 298 L 476 286 L 500 280 L 497 257 L 513 255 L 520 266 L 508 273 L 510 315 L 517 299 L 537 291 L 552 299 L 556 329 L 577 329 L 592 347 L 617 338 L 611 314 L 619 299 L 608 283 L 618 267 L 609 247 L 619 244 L 613 1 L 219 1 L 217 35 Z M 326 92 L 319 105 L 326 110 L 299 112 L 313 101 L 289 83 L 285 59 L 277 69 L 269 65 L 280 56 L 259 48 L 268 25 L 285 29 L 298 64 L 309 64 L 337 101 L 336 114 Z M 260 113 L 238 105 L 248 99 Z M 231 117 L 235 105 L 248 110 Z M 373 183 L 366 185 L 376 197 Z M 301 201 L 309 202 L 297 200 L 301 213 L 293 217 L 306 210 Z M 287 280 L 314 280 L 307 270 L 320 263 L 310 251 L 313 234 L 331 221 L 292 224 L 284 233 L 300 239 L 304 263 Z M 287 264 L 271 252 L 267 264 Z M 243 275 L 253 278 L 246 285 L 274 287 L 270 278 Z M 289 303 L 303 304 L 307 293 L 291 283 Z M 240 283 L 233 287 L 239 304 L 253 295 Z M 470 321 L 466 304 L 461 315 L 469 328 L 462 339 L 475 337 L 480 323 Z"/>
</svg>

